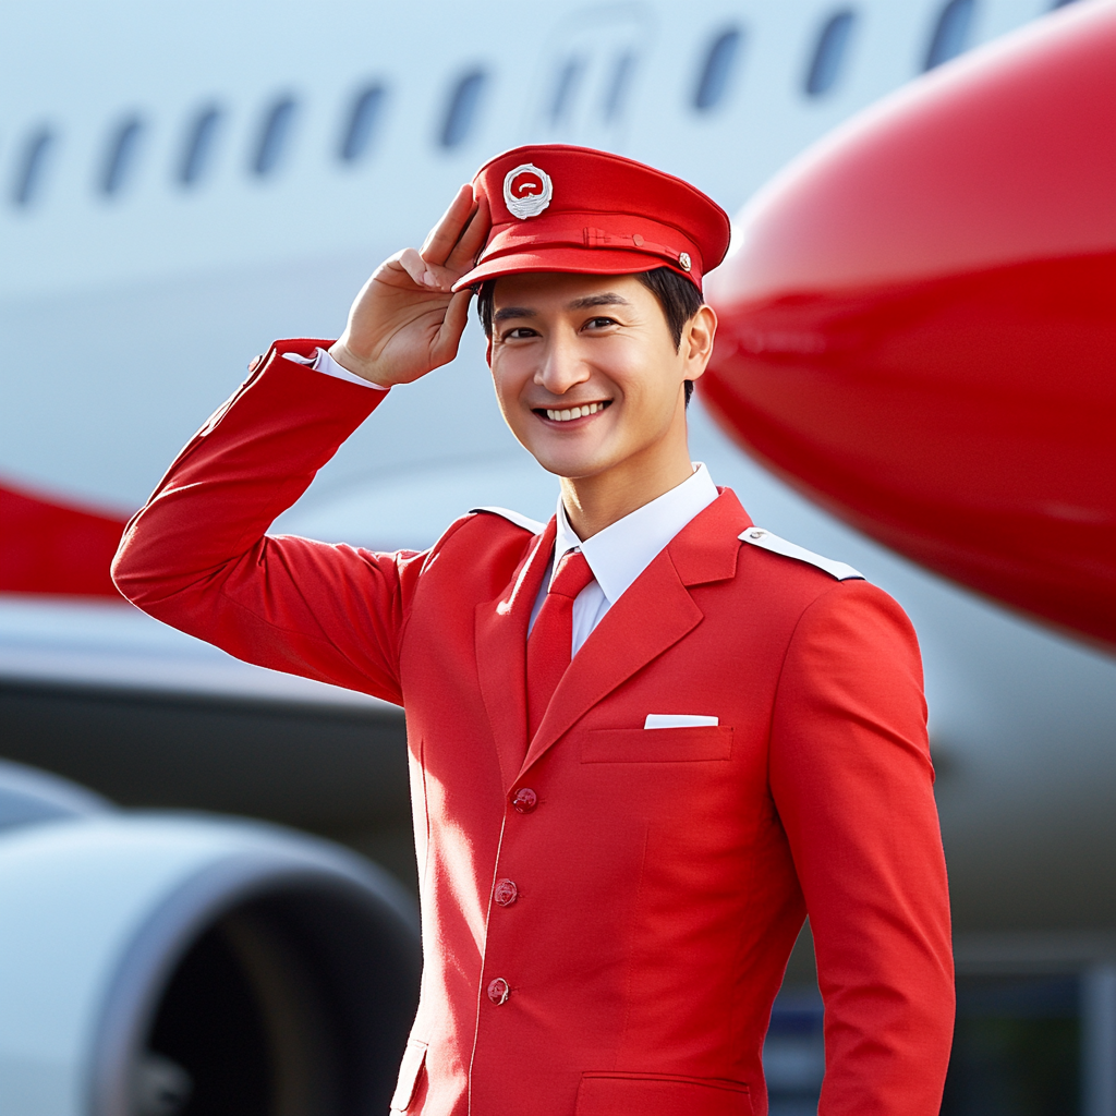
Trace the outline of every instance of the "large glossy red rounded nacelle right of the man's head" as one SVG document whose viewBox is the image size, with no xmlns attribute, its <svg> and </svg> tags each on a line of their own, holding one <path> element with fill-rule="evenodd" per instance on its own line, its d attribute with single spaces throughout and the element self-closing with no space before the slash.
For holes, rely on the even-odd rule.
<svg viewBox="0 0 1116 1116">
<path fill-rule="evenodd" d="M 714 415 L 809 497 L 1116 643 L 1116 4 L 913 83 L 741 214 Z"/>
</svg>

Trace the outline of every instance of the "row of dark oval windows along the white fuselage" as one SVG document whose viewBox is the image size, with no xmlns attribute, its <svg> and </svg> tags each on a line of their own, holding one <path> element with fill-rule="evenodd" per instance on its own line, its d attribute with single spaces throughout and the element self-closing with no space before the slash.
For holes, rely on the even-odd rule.
<svg viewBox="0 0 1116 1116">
<path fill-rule="evenodd" d="M 1071 0 L 1051 0 L 1060 8 Z M 960 55 L 969 45 L 977 0 L 947 0 L 937 12 L 926 42 L 923 69 L 933 69 Z M 837 85 L 847 66 L 849 44 L 858 21 L 854 8 L 839 8 L 826 16 L 818 30 L 809 62 L 802 76 L 802 92 L 808 97 L 821 97 Z M 691 100 L 699 113 L 723 104 L 740 65 L 745 32 L 740 27 L 724 27 L 709 41 Z M 552 124 L 566 117 L 575 99 L 585 62 L 569 59 L 558 74 L 549 116 Z M 602 112 L 607 121 L 618 116 L 635 68 L 635 57 L 620 55 L 613 67 Z M 479 110 L 489 83 L 488 74 L 473 68 L 460 75 L 451 85 L 445 109 L 435 133 L 435 142 L 452 150 L 463 144 L 475 127 Z M 336 155 L 343 163 L 355 164 L 373 148 L 387 100 L 381 83 L 358 89 L 346 106 Z M 259 179 L 275 174 L 291 146 L 299 115 L 298 99 L 285 94 L 272 100 L 261 114 L 248 152 L 247 169 Z M 202 183 L 211 170 L 225 127 L 227 113 L 220 104 L 200 107 L 186 122 L 182 145 L 174 169 L 174 179 L 183 189 Z M 105 144 L 104 161 L 95 186 L 105 198 L 121 193 L 128 184 L 146 140 L 147 124 L 138 114 L 127 114 L 110 129 Z M 17 206 L 31 205 L 40 196 L 58 136 L 49 126 L 32 129 L 17 152 L 10 196 Z"/>
</svg>

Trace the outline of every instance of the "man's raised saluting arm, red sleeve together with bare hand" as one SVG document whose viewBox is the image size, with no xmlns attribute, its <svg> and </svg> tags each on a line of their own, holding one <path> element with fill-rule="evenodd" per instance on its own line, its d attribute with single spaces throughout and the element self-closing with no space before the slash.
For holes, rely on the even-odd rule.
<svg viewBox="0 0 1116 1116">
<path fill-rule="evenodd" d="M 469 292 L 450 287 L 487 230 L 463 186 L 423 249 L 365 285 L 335 359 L 383 388 L 452 360 Z M 113 576 L 145 612 L 240 658 L 402 702 L 398 638 L 423 556 L 266 533 L 385 397 L 286 358 L 329 345 L 272 346 L 133 518 Z"/>
</svg>

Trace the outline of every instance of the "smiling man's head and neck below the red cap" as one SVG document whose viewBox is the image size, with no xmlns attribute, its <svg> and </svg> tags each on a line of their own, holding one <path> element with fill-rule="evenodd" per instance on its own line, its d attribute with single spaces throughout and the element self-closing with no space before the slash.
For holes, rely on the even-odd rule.
<svg viewBox="0 0 1116 1116">
<path fill-rule="evenodd" d="M 580 538 L 694 474 L 684 406 L 716 318 L 690 280 L 668 268 L 512 273 L 484 282 L 479 308 L 503 416 L 562 478 L 564 518 Z"/>
</svg>

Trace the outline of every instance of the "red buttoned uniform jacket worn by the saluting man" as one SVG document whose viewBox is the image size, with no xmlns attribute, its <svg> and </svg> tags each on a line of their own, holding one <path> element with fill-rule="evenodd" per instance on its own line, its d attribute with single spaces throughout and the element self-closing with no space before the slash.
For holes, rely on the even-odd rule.
<svg viewBox="0 0 1116 1116">
<path fill-rule="evenodd" d="M 602 619 L 528 747 L 554 521 L 472 513 L 423 554 L 264 533 L 385 397 L 281 358 L 315 344 L 277 345 L 186 446 L 115 576 L 233 655 L 405 706 L 425 971 L 394 1106 L 763 1114 L 808 912 L 822 1116 L 935 1114 L 949 902 L 902 609 L 742 543 L 725 490 Z M 645 730 L 647 713 L 720 724 Z"/>
</svg>

